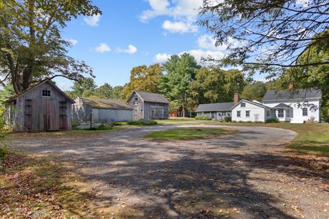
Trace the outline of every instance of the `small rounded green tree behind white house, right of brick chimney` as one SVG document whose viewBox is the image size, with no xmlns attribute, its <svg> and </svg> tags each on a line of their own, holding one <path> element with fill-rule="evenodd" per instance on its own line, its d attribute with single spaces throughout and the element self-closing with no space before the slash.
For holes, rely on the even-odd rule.
<svg viewBox="0 0 329 219">
<path fill-rule="evenodd" d="M 254 81 L 254 83 L 250 83 L 243 89 L 241 93 L 241 99 L 245 99 L 247 101 L 263 101 L 263 97 L 267 91 L 267 87 L 262 81 Z"/>
</svg>

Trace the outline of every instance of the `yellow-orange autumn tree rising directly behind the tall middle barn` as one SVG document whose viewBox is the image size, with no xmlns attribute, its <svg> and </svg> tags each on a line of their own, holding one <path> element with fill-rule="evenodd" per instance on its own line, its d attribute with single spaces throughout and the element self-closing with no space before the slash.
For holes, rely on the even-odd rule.
<svg viewBox="0 0 329 219">
<path fill-rule="evenodd" d="M 158 79 L 162 76 L 163 68 L 160 64 L 153 64 L 149 67 L 137 66 L 130 72 L 130 82 L 123 88 L 125 99 L 129 99 L 134 90 L 144 92 L 159 92 Z"/>
</svg>

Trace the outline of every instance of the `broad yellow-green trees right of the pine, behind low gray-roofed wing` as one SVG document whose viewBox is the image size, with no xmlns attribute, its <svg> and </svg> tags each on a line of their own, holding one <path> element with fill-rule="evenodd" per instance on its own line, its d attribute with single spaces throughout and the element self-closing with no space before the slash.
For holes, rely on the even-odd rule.
<svg viewBox="0 0 329 219">
<path fill-rule="evenodd" d="M 244 75 L 239 70 L 201 68 L 189 85 L 190 101 L 194 105 L 230 102 L 234 93 L 241 93 L 244 86 Z"/>
</svg>

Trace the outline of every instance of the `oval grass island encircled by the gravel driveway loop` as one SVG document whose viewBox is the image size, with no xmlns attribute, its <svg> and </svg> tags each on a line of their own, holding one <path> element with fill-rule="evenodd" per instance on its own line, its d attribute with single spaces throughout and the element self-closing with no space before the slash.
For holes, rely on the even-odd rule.
<svg viewBox="0 0 329 219">
<path fill-rule="evenodd" d="M 154 131 L 149 133 L 147 138 L 154 138 L 157 140 L 189 140 L 223 136 L 233 132 L 234 130 L 232 129 L 219 128 L 180 128 Z"/>
</svg>

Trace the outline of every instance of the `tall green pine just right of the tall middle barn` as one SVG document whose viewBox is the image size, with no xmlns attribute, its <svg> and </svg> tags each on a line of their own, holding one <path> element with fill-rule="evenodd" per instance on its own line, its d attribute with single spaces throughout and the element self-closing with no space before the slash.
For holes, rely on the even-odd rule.
<svg viewBox="0 0 329 219">
<path fill-rule="evenodd" d="M 200 66 L 197 65 L 195 58 L 188 53 L 180 56 L 172 55 L 163 66 L 167 74 L 159 80 L 160 90 L 170 101 L 180 103 L 183 116 L 185 116 L 184 109 L 188 107 L 190 95 L 189 84 L 195 79 L 195 73 Z"/>
</svg>

